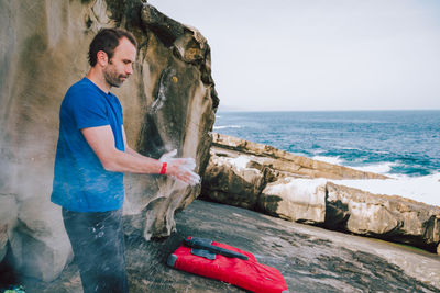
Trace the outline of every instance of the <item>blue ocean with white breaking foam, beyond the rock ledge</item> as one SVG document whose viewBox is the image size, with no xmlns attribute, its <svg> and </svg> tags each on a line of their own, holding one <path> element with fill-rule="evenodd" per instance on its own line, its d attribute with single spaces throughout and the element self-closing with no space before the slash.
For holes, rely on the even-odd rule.
<svg viewBox="0 0 440 293">
<path fill-rule="evenodd" d="M 440 206 L 440 111 L 219 111 L 213 131 L 386 174 L 343 183 Z"/>
</svg>

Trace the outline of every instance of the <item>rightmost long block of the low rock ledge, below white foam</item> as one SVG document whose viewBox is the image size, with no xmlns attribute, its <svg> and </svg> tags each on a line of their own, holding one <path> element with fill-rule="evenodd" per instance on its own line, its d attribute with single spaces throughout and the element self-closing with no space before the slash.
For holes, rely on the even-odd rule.
<svg viewBox="0 0 440 293">
<path fill-rule="evenodd" d="M 327 183 L 326 190 L 326 225 L 436 251 L 440 241 L 438 206 L 332 182 Z"/>
</svg>

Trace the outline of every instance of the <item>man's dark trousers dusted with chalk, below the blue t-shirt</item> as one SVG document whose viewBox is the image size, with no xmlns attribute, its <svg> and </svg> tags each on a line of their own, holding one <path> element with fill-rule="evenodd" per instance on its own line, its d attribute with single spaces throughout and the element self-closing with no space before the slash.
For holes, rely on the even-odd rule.
<svg viewBox="0 0 440 293">
<path fill-rule="evenodd" d="M 85 293 L 127 293 L 122 209 L 78 213 L 63 209 Z"/>
</svg>

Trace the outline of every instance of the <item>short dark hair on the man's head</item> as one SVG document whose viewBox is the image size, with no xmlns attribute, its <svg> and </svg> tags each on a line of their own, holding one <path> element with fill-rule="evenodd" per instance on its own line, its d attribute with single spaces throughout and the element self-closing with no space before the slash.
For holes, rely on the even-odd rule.
<svg viewBox="0 0 440 293">
<path fill-rule="evenodd" d="M 134 35 L 122 29 L 101 29 L 94 37 L 89 47 L 89 64 L 94 67 L 97 64 L 97 54 L 103 50 L 109 56 L 113 57 L 114 48 L 118 47 L 119 41 L 127 37 L 136 48 L 138 42 Z"/>
</svg>

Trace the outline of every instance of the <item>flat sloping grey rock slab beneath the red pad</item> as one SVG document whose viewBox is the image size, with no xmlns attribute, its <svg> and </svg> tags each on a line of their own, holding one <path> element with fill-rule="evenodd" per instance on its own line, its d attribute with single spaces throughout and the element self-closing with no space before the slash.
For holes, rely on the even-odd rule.
<svg viewBox="0 0 440 293">
<path fill-rule="evenodd" d="M 440 292 L 440 256 L 422 250 L 202 201 L 178 213 L 176 222 L 177 233 L 163 241 L 145 241 L 127 226 L 132 230 L 127 237 L 130 292 L 244 292 L 168 268 L 166 258 L 187 236 L 254 253 L 283 273 L 290 292 Z M 51 283 L 21 283 L 29 293 L 81 292 L 74 264 Z"/>
</svg>

